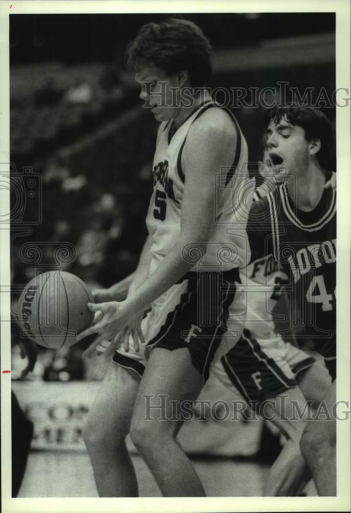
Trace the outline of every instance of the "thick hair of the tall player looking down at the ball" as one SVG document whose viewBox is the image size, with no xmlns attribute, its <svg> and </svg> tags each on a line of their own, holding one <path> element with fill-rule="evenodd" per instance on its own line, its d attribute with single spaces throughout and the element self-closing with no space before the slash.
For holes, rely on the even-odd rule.
<svg viewBox="0 0 351 513">
<path fill-rule="evenodd" d="M 126 50 L 126 66 L 138 72 L 160 68 L 167 75 L 188 70 L 191 87 L 202 87 L 212 74 L 212 46 L 195 23 L 168 18 L 148 23 L 139 30 Z"/>
</svg>

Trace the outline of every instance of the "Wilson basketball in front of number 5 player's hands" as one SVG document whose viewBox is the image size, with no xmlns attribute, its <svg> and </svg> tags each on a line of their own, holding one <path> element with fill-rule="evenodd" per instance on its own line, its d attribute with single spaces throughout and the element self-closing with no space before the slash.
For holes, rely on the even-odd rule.
<svg viewBox="0 0 351 513">
<path fill-rule="evenodd" d="M 38 274 L 19 298 L 22 335 L 50 349 L 71 346 L 94 319 L 87 306 L 92 302 L 91 291 L 74 274 L 59 270 Z"/>
</svg>

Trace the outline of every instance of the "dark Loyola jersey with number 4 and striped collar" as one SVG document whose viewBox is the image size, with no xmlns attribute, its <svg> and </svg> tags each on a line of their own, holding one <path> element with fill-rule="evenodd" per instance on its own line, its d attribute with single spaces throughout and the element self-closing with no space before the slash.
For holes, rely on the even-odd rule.
<svg viewBox="0 0 351 513">
<path fill-rule="evenodd" d="M 288 275 L 293 325 L 305 327 L 321 354 L 335 356 L 336 191 L 324 189 L 305 212 L 281 185 L 253 203 L 247 234 L 251 262 L 273 255 Z"/>
</svg>

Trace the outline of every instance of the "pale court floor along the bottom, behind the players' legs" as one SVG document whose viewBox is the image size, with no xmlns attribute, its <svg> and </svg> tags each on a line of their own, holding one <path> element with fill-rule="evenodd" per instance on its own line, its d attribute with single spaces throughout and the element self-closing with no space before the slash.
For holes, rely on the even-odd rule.
<svg viewBox="0 0 351 513">
<path fill-rule="evenodd" d="M 132 456 L 140 497 L 161 497 L 140 456 Z M 227 458 L 192 459 L 208 497 L 259 497 L 269 465 Z M 97 497 L 86 452 L 32 451 L 18 497 Z"/>
</svg>

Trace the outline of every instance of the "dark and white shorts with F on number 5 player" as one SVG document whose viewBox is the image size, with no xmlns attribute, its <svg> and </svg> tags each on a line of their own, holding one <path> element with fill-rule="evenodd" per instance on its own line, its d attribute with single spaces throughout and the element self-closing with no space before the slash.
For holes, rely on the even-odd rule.
<svg viewBox="0 0 351 513">
<path fill-rule="evenodd" d="M 114 362 L 142 376 L 153 348 L 173 351 L 186 347 L 203 381 L 207 381 L 219 346 L 223 346 L 220 354 L 224 354 L 240 335 L 242 319 L 233 320 L 239 284 L 238 269 L 185 274 L 180 283 L 151 305 L 142 320 L 145 344 L 139 344 L 137 352 L 130 337 L 129 351 L 120 347 L 114 354 Z"/>
</svg>

